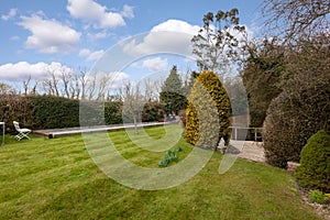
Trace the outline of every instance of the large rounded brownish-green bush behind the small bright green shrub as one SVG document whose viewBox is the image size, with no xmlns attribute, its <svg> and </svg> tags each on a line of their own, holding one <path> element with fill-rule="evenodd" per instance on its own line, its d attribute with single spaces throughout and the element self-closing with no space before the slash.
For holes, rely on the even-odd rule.
<svg viewBox="0 0 330 220">
<path fill-rule="evenodd" d="M 323 76 L 301 82 L 272 101 L 263 132 L 268 164 L 286 168 L 288 161 L 299 162 L 307 140 L 319 130 L 330 130 L 329 85 L 330 77 Z"/>
</svg>

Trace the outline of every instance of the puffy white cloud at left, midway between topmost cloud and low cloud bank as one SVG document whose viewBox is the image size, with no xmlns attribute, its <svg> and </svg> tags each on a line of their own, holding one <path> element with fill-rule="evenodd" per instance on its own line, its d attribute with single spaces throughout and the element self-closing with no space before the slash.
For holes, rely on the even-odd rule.
<svg viewBox="0 0 330 220">
<path fill-rule="evenodd" d="M 19 25 L 32 33 L 25 42 L 26 47 L 46 54 L 67 53 L 74 50 L 81 35 L 69 26 L 55 20 L 44 20 L 37 14 L 22 16 Z"/>
</svg>

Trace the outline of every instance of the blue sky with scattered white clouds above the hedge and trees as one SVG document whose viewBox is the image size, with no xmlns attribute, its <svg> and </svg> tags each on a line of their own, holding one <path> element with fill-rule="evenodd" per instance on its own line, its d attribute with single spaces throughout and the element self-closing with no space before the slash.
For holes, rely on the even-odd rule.
<svg viewBox="0 0 330 220">
<path fill-rule="evenodd" d="M 33 80 L 40 80 L 46 77 L 45 69 L 48 68 L 73 72 L 79 68 L 90 69 L 109 48 L 111 51 L 127 37 L 132 37 L 127 42 L 132 46 L 129 51 L 136 53 L 134 58 L 129 59 L 132 65 L 121 70 L 134 72 L 138 67 L 140 72 L 136 73 L 168 70 L 178 62 L 177 56 L 161 57 L 153 53 L 177 43 L 177 54 L 182 54 L 178 47 L 183 43 L 176 42 L 180 37 L 168 35 L 167 38 L 162 38 L 150 33 L 161 30 L 194 34 L 202 25 L 202 16 L 207 12 L 238 8 L 241 24 L 246 25 L 251 34 L 257 35 L 261 2 L 262 0 L 0 0 L 0 82 L 19 84 L 30 76 Z M 141 42 L 133 44 L 136 35 L 141 37 Z M 145 37 L 151 43 L 147 46 Z M 151 40 L 152 37 L 155 38 Z M 162 45 L 154 45 L 153 41 Z M 142 45 L 143 42 L 145 45 Z M 152 46 L 160 47 L 153 51 Z M 139 50 L 146 50 L 146 53 L 140 53 Z M 150 52 L 153 52 L 151 57 L 139 58 Z M 125 56 L 121 53 L 118 57 Z M 132 62 L 135 59 L 140 64 Z M 179 59 L 184 61 L 185 57 Z M 186 68 L 190 68 L 190 65 L 194 64 L 187 64 Z"/>
</svg>

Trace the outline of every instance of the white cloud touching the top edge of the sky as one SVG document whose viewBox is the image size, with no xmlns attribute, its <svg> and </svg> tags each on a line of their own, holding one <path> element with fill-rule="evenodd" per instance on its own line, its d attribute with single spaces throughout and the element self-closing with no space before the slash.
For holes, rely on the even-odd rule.
<svg viewBox="0 0 330 220">
<path fill-rule="evenodd" d="M 133 18 L 133 8 L 124 6 L 122 12 L 111 12 L 94 0 L 68 0 L 72 16 L 97 22 L 95 28 L 109 29 L 125 25 L 124 18 Z"/>
</svg>

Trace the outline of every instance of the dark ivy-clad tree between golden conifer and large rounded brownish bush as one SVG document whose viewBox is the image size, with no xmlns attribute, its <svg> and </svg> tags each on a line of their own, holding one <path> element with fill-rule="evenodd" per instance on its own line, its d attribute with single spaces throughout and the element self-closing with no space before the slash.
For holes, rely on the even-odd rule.
<svg viewBox="0 0 330 220">
<path fill-rule="evenodd" d="M 250 125 L 260 128 L 271 101 L 282 92 L 278 85 L 285 72 L 284 48 L 273 38 L 251 46 L 249 53 L 242 79 L 249 99 Z"/>
</svg>

